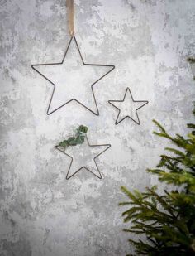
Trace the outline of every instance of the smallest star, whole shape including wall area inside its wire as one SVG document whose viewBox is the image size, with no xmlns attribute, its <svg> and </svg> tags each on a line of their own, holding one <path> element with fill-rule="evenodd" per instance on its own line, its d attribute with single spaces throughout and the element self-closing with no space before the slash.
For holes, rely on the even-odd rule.
<svg viewBox="0 0 195 256">
<path fill-rule="evenodd" d="M 148 104 L 147 100 L 134 100 L 131 94 L 131 90 L 127 87 L 125 96 L 122 100 L 108 100 L 109 104 L 112 104 L 118 109 L 117 120 L 115 124 L 121 123 L 125 118 L 131 118 L 135 123 L 140 124 L 140 119 L 137 114 L 137 110 Z"/>
</svg>

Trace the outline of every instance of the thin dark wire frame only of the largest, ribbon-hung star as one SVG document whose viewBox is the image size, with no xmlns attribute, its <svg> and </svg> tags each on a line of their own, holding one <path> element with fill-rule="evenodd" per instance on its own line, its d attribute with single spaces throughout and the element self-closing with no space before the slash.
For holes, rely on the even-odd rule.
<svg viewBox="0 0 195 256">
<path fill-rule="evenodd" d="M 91 85 L 91 89 L 92 89 L 92 93 L 93 93 L 93 99 L 94 99 L 94 102 L 95 102 L 95 105 L 96 105 L 97 113 L 94 112 L 92 109 L 88 109 L 88 107 L 87 107 L 86 105 L 82 104 L 78 99 L 70 99 L 70 100 L 69 100 L 68 102 L 66 102 L 65 104 L 60 105 L 57 109 L 54 109 L 53 111 L 50 112 L 50 104 L 51 104 L 52 99 L 53 99 L 53 96 L 54 96 L 54 94 L 55 94 L 55 86 L 56 86 L 56 85 L 55 85 L 51 80 L 49 80 L 45 75 L 41 74 L 40 71 L 36 70 L 36 66 L 41 66 L 41 65 L 61 65 L 61 64 L 63 64 L 63 62 L 64 62 L 64 60 L 65 60 L 65 57 L 66 57 L 66 55 L 67 55 L 67 52 L 69 51 L 69 46 L 70 46 L 70 44 L 71 44 L 71 42 L 72 42 L 73 40 L 74 40 L 74 42 L 75 42 L 75 44 L 76 44 L 76 47 L 77 47 L 77 49 L 78 49 L 78 53 L 79 53 L 79 56 L 80 56 L 80 58 L 81 58 L 81 60 L 82 60 L 82 62 L 83 62 L 83 65 L 111 67 L 111 70 L 108 70 L 107 73 L 105 73 L 104 75 L 102 75 L 98 80 L 96 80 L 95 82 L 93 82 L 93 84 Z M 67 49 L 66 49 L 66 51 L 65 51 L 65 53 L 64 53 L 64 57 L 63 57 L 63 60 L 62 60 L 61 62 L 57 62 L 57 63 L 46 63 L 46 64 L 34 64 L 34 65 L 31 65 L 31 68 L 32 68 L 33 70 L 36 70 L 36 72 L 37 72 L 39 75 L 43 76 L 43 77 L 45 78 L 45 80 L 48 80 L 52 85 L 54 85 L 54 89 L 53 89 L 53 91 L 52 91 L 51 98 L 50 98 L 50 102 L 49 102 L 49 105 L 48 105 L 48 108 L 47 108 L 47 112 L 46 112 L 47 115 L 53 114 L 53 113 L 54 113 L 55 111 L 57 111 L 58 109 L 64 107 L 64 105 L 69 104 L 69 102 L 71 102 L 71 101 L 76 101 L 78 104 L 81 104 L 85 109 L 88 109 L 90 112 L 92 112 L 93 114 L 95 114 L 95 115 L 98 116 L 98 115 L 99 115 L 99 110 L 98 110 L 98 104 L 97 104 L 97 101 L 96 101 L 96 98 L 95 98 L 95 94 L 94 94 L 94 92 L 93 92 L 93 85 L 95 85 L 96 83 L 98 83 L 99 80 L 102 80 L 103 77 L 105 77 L 105 76 L 108 75 L 110 72 L 112 72 L 112 70 L 115 69 L 115 65 L 87 64 L 87 63 L 85 63 L 84 60 L 83 60 L 83 56 L 82 56 L 82 54 L 81 54 L 81 51 L 80 51 L 80 49 L 79 49 L 79 47 L 78 47 L 78 42 L 77 42 L 77 40 L 76 40 L 76 37 L 75 37 L 75 36 L 72 36 L 72 37 L 70 38 L 69 45 L 68 45 L 68 47 L 67 47 Z"/>
</svg>

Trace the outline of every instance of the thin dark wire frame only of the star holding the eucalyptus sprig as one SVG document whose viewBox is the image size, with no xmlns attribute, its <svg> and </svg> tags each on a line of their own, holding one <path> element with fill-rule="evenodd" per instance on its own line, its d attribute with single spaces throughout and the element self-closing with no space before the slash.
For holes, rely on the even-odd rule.
<svg viewBox="0 0 195 256">
<path fill-rule="evenodd" d="M 86 138 L 86 140 L 87 140 L 87 142 L 88 142 L 88 137 L 86 136 L 85 138 Z M 104 146 L 107 147 L 107 148 L 104 149 L 102 152 L 100 152 L 96 157 L 93 157 L 93 161 L 95 162 L 95 165 L 96 165 L 96 167 L 97 167 L 99 176 L 96 175 L 93 171 L 89 170 L 88 167 L 84 167 L 84 166 L 83 166 L 83 167 L 80 167 L 77 171 L 74 172 L 74 174 L 72 174 L 71 176 L 69 176 L 69 171 L 70 171 L 70 169 L 71 169 L 71 167 L 72 167 L 72 163 L 73 163 L 73 161 L 74 161 L 74 157 L 69 156 L 69 154 L 67 154 L 66 152 L 64 152 L 65 150 L 60 149 L 60 148 L 61 148 L 60 146 L 55 146 L 55 148 L 56 148 L 57 150 L 59 150 L 59 152 L 62 152 L 62 153 L 64 153 L 64 155 L 66 155 L 66 156 L 68 156 L 68 157 L 71 158 L 71 162 L 70 162 L 70 165 L 69 165 L 69 170 L 68 170 L 67 175 L 66 175 L 66 180 L 69 180 L 69 178 L 71 178 L 72 176 L 74 176 L 76 173 L 78 173 L 78 171 L 80 171 L 80 170 L 83 169 L 83 168 L 84 168 L 85 170 L 91 172 L 94 176 L 97 176 L 100 180 L 102 179 L 102 175 L 101 175 L 101 172 L 99 171 L 98 164 L 97 164 L 97 162 L 96 162 L 96 158 L 98 158 L 100 155 L 102 155 L 103 152 L 106 152 L 107 149 L 109 149 L 109 148 L 111 147 L 111 144 L 91 145 L 91 144 L 88 142 L 88 146 L 89 146 L 89 147 L 101 147 L 101 146 L 102 146 L 102 147 L 104 147 Z M 75 147 L 75 146 L 73 146 L 73 147 Z"/>
</svg>

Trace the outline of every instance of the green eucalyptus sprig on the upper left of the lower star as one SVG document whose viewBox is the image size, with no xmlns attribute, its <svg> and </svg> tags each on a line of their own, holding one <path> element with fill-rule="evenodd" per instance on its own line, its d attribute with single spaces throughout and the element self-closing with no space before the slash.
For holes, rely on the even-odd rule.
<svg viewBox="0 0 195 256">
<path fill-rule="evenodd" d="M 63 142 L 59 142 L 60 147 L 67 148 L 69 146 L 76 146 L 78 144 L 83 144 L 86 133 L 88 132 L 87 126 L 80 125 L 76 129 L 76 135 L 74 137 L 69 137 L 65 139 Z"/>
</svg>

